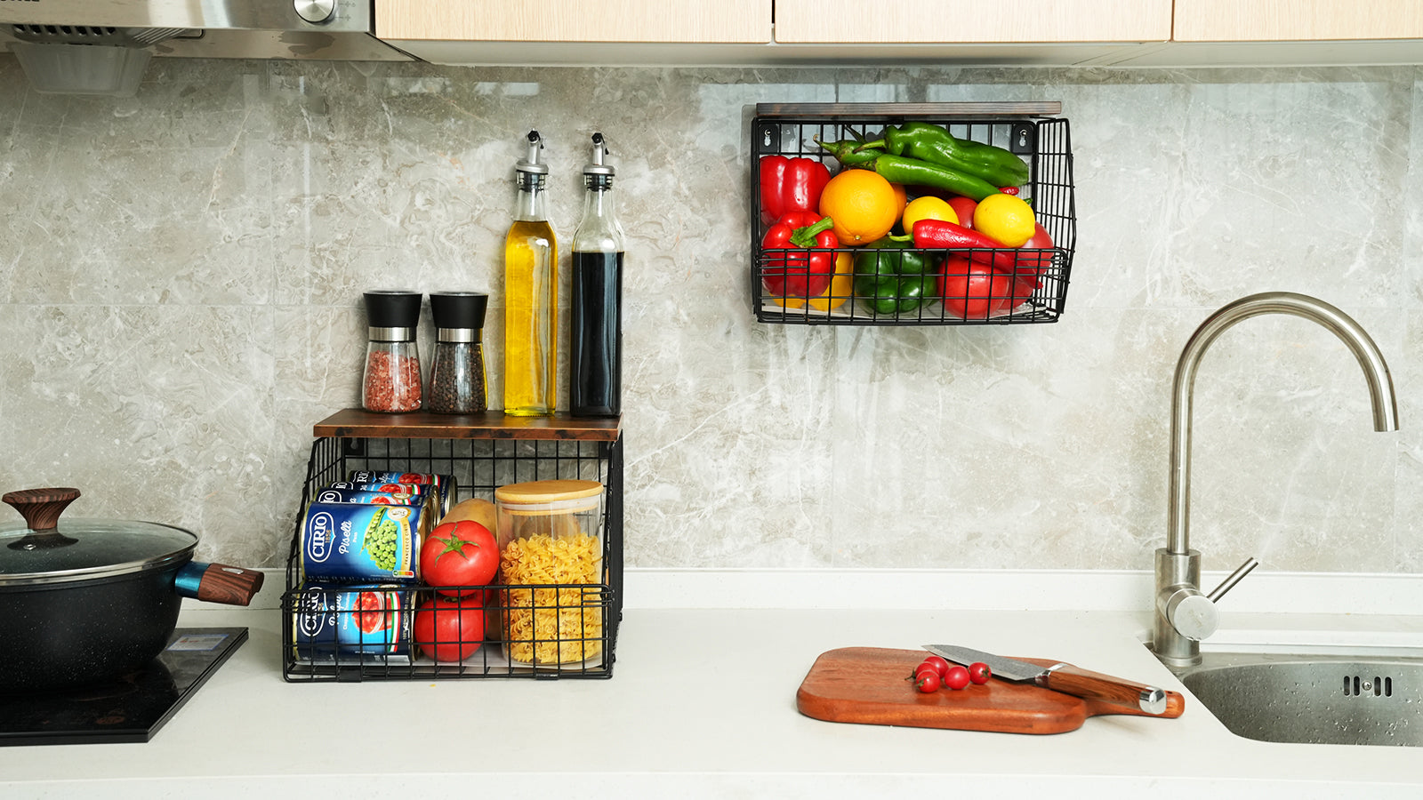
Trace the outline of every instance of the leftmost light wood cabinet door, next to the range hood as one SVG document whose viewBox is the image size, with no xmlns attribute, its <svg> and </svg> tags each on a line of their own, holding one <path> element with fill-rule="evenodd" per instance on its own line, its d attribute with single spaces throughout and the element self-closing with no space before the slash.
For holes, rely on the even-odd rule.
<svg viewBox="0 0 1423 800">
<path fill-rule="evenodd" d="M 771 0 L 376 0 L 376 36 L 430 41 L 768 43 Z"/>
</svg>

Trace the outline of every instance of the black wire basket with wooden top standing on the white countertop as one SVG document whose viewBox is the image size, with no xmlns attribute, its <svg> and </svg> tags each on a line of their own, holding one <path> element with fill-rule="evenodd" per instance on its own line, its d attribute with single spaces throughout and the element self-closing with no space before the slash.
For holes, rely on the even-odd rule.
<svg viewBox="0 0 1423 800">
<path fill-rule="evenodd" d="M 622 437 L 618 420 L 371 414 L 347 409 L 316 426 L 282 595 L 282 663 L 289 682 L 480 678 L 610 678 L 622 619 Z M 323 436 L 326 434 L 326 436 Z M 508 484 L 603 484 L 602 581 L 427 586 L 303 582 L 305 510 L 319 490 L 354 471 L 453 477 L 450 505 L 494 500 Z M 495 579 L 498 581 L 498 578 Z M 484 615 L 478 649 L 461 660 L 413 643 L 414 609 L 440 592 L 447 606 Z M 462 595 L 462 596 L 457 596 Z M 336 629 L 377 632 L 343 639 Z M 472 645 L 437 633 L 435 646 Z M 431 648 L 433 649 L 433 648 Z"/>
</svg>

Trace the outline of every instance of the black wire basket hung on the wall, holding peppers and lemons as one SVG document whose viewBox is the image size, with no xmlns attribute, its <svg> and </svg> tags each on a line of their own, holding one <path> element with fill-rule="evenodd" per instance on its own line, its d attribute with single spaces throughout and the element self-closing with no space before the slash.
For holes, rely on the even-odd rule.
<svg viewBox="0 0 1423 800">
<path fill-rule="evenodd" d="M 751 121 L 751 305 L 756 319 L 781 325 L 1020 325 L 1057 322 L 1067 302 L 1072 256 L 1077 239 L 1076 202 L 1073 198 L 1072 141 L 1066 118 L 1056 114 L 1060 102 L 837 102 L 837 104 L 757 104 Z M 864 278 L 874 278 L 855 256 L 864 248 L 810 248 L 808 255 L 830 253 L 845 259 L 848 269 L 837 266 L 838 278 L 815 298 L 795 298 L 787 289 L 773 292 L 767 276 L 780 278 L 804 269 L 804 258 L 794 268 L 787 251 L 764 248 L 770 228 L 761 218 L 761 162 L 768 155 L 813 158 L 824 162 L 831 174 L 842 167 L 820 142 L 871 141 L 887 125 L 921 121 L 941 125 L 959 140 L 996 145 L 1023 159 L 1027 182 L 1017 195 L 1032 205 L 1036 222 L 1052 239 L 1052 246 L 1036 248 L 908 248 L 932 265 L 938 273 L 918 303 L 889 298 L 875 303 L 858 290 Z M 909 186 L 914 194 L 914 186 Z M 896 231 L 898 232 L 898 231 Z M 958 258 L 962 256 L 962 258 Z M 840 265 L 841 262 L 835 262 Z M 1002 278 L 980 278 L 968 263 L 993 263 Z M 949 280 L 945 280 L 948 273 Z M 1019 276 L 1032 276 L 1019 282 Z M 914 306 L 909 309 L 901 306 Z"/>
</svg>

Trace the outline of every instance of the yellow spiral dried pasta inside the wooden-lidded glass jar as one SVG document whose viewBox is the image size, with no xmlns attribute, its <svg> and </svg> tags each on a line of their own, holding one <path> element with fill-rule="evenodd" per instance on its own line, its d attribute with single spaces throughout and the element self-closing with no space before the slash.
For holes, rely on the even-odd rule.
<svg viewBox="0 0 1423 800">
<path fill-rule="evenodd" d="M 535 534 L 511 540 L 499 552 L 504 582 L 598 584 L 602 544 L 586 534 L 554 538 Z M 578 663 L 602 653 L 601 598 L 575 588 L 505 589 L 504 641 L 512 660 Z"/>
</svg>

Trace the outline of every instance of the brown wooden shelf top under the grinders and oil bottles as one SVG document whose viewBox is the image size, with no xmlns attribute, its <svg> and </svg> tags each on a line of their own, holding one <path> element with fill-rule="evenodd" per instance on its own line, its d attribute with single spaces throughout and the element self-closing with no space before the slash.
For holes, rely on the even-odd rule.
<svg viewBox="0 0 1423 800">
<path fill-rule="evenodd" d="M 615 441 L 622 417 L 509 417 L 502 411 L 480 414 L 377 414 L 364 409 L 342 409 L 316 423 L 317 437 L 350 438 L 568 438 Z"/>
</svg>

